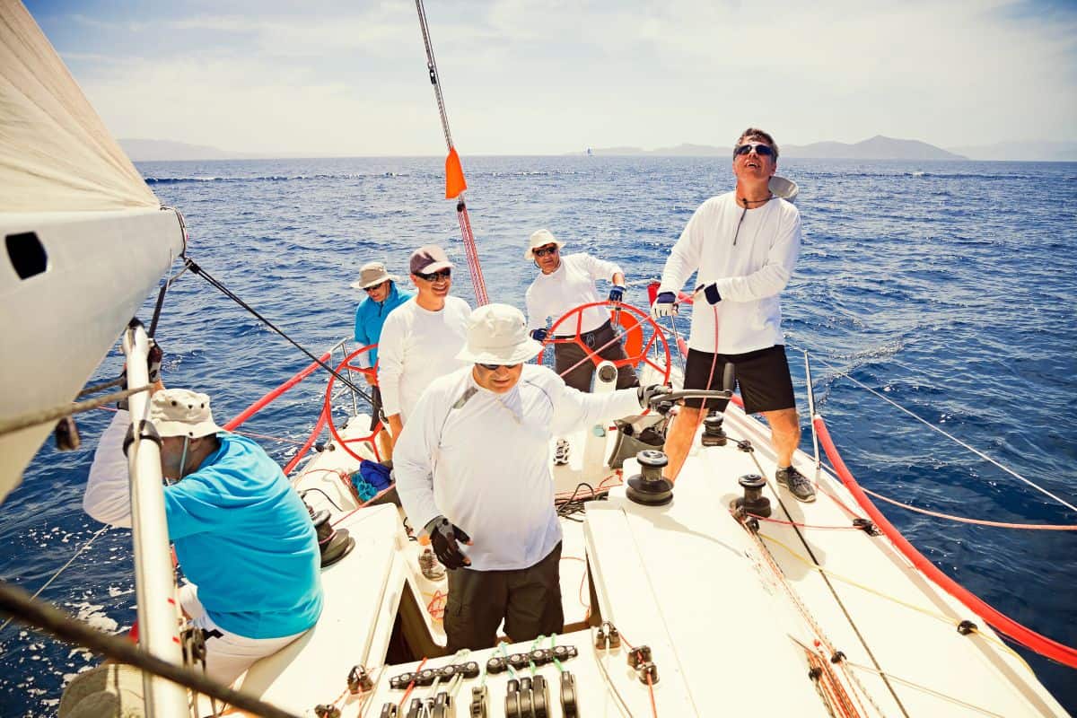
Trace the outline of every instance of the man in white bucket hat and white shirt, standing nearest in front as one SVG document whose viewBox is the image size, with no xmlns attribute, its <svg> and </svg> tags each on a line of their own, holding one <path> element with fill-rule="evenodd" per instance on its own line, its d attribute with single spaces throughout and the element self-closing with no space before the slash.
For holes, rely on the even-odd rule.
<svg viewBox="0 0 1077 718">
<path fill-rule="evenodd" d="M 404 510 L 450 569 L 450 652 L 492 646 L 502 620 L 514 642 L 561 631 L 550 438 L 637 413 L 655 391 L 584 394 L 523 364 L 537 352 L 519 310 L 476 309 L 460 352 L 468 368 L 430 385 L 396 445 Z"/>
</svg>

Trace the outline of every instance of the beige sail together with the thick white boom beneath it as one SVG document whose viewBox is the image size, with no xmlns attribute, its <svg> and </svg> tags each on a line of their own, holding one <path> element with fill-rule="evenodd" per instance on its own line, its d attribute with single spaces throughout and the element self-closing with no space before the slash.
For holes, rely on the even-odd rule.
<svg viewBox="0 0 1077 718">
<path fill-rule="evenodd" d="M 19 2 L 0 0 L 0 421 L 70 402 L 184 237 Z M 0 499 L 51 424 L 0 436 Z"/>
</svg>

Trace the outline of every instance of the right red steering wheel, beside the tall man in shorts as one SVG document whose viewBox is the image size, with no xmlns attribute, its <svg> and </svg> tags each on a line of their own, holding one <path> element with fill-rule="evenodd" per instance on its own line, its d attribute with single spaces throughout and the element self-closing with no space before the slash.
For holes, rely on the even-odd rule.
<svg viewBox="0 0 1077 718">
<path fill-rule="evenodd" d="M 623 360 L 605 360 L 599 356 L 598 352 L 605 349 L 603 347 L 596 347 L 591 349 L 587 346 L 587 342 L 583 339 L 583 332 L 581 327 L 584 321 L 584 310 L 590 309 L 591 307 L 607 307 L 605 301 L 592 301 L 587 305 L 579 305 L 574 309 L 570 309 L 562 315 L 559 320 L 554 322 L 554 326 L 550 327 L 546 340 L 543 341 L 543 347 L 547 344 L 564 344 L 574 343 L 579 349 L 583 350 L 585 358 L 591 361 L 595 366 L 598 366 L 602 362 L 612 362 L 618 369 L 623 366 L 639 366 L 640 364 L 647 364 L 653 369 L 657 370 L 661 377 L 662 382 L 669 382 L 670 380 L 670 346 L 666 340 L 666 335 L 662 333 L 661 327 L 651 318 L 651 312 L 638 309 L 632 305 L 619 304 L 616 305 L 614 309 L 610 310 L 610 321 L 613 325 L 619 329 L 615 335 L 616 341 L 620 341 L 621 337 L 625 338 L 625 353 L 628 355 Z M 645 327 L 649 327 L 649 337 L 647 333 L 644 332 Z M 555 337 L 558 334 L 558 328 L 561 329 L 560 334 L 564 336 Z M 572 332 L 573 334 L 569 334 Z M 661 346 L 659 351 L 659 358 L 665 354 L 666 366 L 660 366 L 655 363 L 654 360 L 648 356 L 651 349 L 656 346 L 656 343 Z M 538 363 L 542 363 L 542 354 L 538 355 Z M 573 367 L 574 368 L 574 367 Z M 571 370 L 571 369 L 570 369 Z"/>
</svg>

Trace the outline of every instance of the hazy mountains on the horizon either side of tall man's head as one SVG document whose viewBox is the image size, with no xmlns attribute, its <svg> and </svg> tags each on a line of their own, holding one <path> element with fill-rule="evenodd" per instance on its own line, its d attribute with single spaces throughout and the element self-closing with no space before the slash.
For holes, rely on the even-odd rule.
<svg viewBox="0 0 1077 718">
<path fill-rule="evenodd" d="M 847 144 L 844 142 L 814 142 L 812 144 L 782 144 L 783 157 L 811 157 L 815 159 L 967 159 L 920 140 L 896 140 L 878 135 L 869 140 Z M 648 155 L 666 157 L 724 157 L 732 147 L 707 144 L 679 144 L 675 147 L 641 150 L 639 147 L 604 147 L 592 150 L 595 155 Z M 583 153 L 572 153 L 583 154 Z"/>
</svg>

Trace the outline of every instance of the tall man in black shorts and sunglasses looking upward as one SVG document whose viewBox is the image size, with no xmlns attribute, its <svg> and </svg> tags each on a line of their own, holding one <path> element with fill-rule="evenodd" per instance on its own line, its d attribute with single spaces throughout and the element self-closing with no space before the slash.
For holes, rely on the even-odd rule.
<svg viewBox="0 0 1077 718">
<path fill-rule="evenodd" d="M 656 319 L 676 313 L 676 293 L 698 270 L 684 386 L 731 390 L 722 382 L 732 365 L 744 411 L 761 412 L 770 425 L 778 482 L 810 502 L 815 489 L 793 466 L 800 423 L 779 302 L 800 254 L 800 213 L 770 192 L 778 144 L 769 133 L 744 130 L 733 147 L 732 169 L 737 187 L 703 202 L 673 245 L 652 313 Z M 666 439 L 668 478 L 680 474 L 703 407 L 723 411 L 727 404 L 684 403 Z"/>
</svg>

